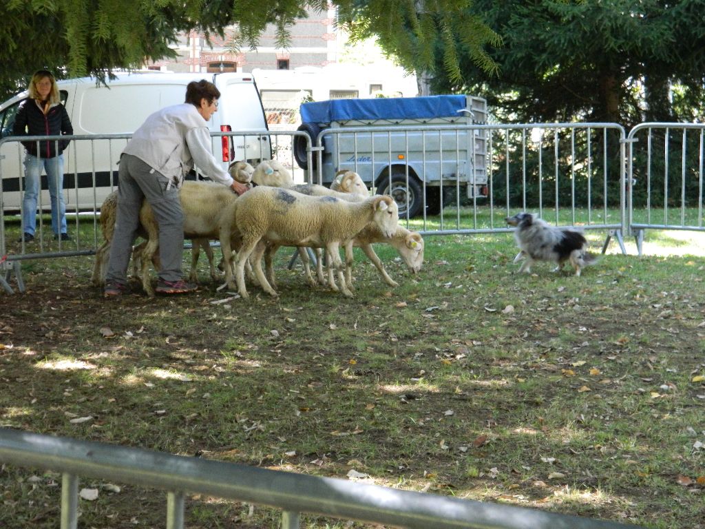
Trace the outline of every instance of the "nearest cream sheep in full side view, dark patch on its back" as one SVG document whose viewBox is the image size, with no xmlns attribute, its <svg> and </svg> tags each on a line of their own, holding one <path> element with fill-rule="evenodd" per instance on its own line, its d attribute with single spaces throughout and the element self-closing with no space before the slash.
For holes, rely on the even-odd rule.
<svg viewBox="0 0 705 529">
<path fill-rule="evenodd" d="M 352 296 L 345 285 L 343 262 L 338 253 L 341 244 L 350 241 L 367 224 L 374 222 L 382 233 L 393 236 L 398 226 L 396 202 L 388 196 L 370 197 L 362 202 L 345 202 L 336 197 L 312 197 L 292 190 L 260 186 L 228 205 L 221 217 L 221 248 L 228 256 L 231 238 L 240 238 L 235 260 L 238 293 L 246 298 L 245 262 L 252 254 L 260 286 L 276 296 L 262 272 L 262 254 L 266 241 L 276 245 L 325 248 L 329 266 L 338 272 L 341 291 Z M 331 275 L 332 279 L 332 275 Z M 226 265 L 226 281 L 232 286 L 231 267 Z M 331 288 L 337 289 L 334 281 Z"/>
</svg>

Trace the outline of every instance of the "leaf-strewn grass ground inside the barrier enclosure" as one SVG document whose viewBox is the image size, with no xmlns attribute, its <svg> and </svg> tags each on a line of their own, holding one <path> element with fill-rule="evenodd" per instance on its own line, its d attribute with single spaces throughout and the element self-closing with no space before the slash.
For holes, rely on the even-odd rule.
<svg viewBox="0 0 705 529">
<path fill-rule="evenodd" d="M 596 251 L 602 236 L 589 233 Z M 509 234 L 426 241 L 418 276 L 379 248 L 398 288 L 358 258 L 353 300 L 306 286 L 283 251 L 279 298 L 252 287 L 227 303 L 205 266 L 197 293 L 104 300 L 92 257 L 25 262 L 27 292 L 0 293 L 0 425 L 704 528 L 702 238 L 649 232 L 648 257 L 613 243 L 580 278 L 548 264 L 518 276 Z M 56 527 L 58 482 L 1 466 L 0 527 Z M 99 490 L 82 528 L 164 526 L 160 492 L 80 487 Z M 190 528 L 279 523 L 209 497 L 187 508 Z"/>
</svg>

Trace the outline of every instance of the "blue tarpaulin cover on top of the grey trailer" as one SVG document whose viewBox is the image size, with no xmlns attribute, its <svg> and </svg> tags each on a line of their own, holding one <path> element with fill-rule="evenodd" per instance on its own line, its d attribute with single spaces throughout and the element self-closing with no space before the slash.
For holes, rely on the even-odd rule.
<svg viewBox="0 0 705 529">
<path fill-rule="evenodd" d="M 424 119 L 458 117 L 465 109 L 464 95 L 331 99 L 301 105 L 302 123 L 373 119 Z"/>
</svg>

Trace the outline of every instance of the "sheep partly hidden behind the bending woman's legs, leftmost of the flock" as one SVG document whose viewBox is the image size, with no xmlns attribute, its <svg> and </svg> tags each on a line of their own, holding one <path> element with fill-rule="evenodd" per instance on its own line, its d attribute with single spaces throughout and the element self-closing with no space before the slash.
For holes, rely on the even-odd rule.
<svg viewBox="0 0 705 529">
<path fill-rule="evenodd" d="M 233 179 L 245 185 L 250 184 L 255 169 L 247 162 L 234 162 L 228 167 L 228 172 Z M 218 219 L 222 208 L 238 195 L 227 186 L 207 181 L 185 181 L 180 189 L 181 208 L 184 213 L 184 238 L 190 238 L 193 243 L 191 257 L 190 281 L 197 279 L 197 261 L 199 249 L 202 248 L 208 257 L 210 275 L 214 281 L 218 274 L 213 263 L 213 250 L 209 238 L 218 238 Z M 114 191 L 104 200 L 101 206 L 100 223 L 105 239 L 96 252 L 96 261 L 93 267 L 92 282 L 94 285 L 104 284 L 107 272 L 107 257 L 113 238 L 117 209 L 117 192 Z M 137 226 L 137 236 L 145 239 L 133 250 L 135 268 L 140 263 L 142 270 L 142 286 L 149 296 L 154 296 L 154 289 L 149 281 L 149 262 L 154 261 L 154 266 L 159 267 L 159 226 L 152 208 L 145 200 L 140 209 L 140 224 Z"/>
</svg>

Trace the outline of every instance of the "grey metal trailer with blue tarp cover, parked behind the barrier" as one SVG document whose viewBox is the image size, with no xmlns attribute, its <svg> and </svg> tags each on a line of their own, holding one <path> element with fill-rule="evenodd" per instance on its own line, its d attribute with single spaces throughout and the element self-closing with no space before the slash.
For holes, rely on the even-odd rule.
<svg viewBox="0 0 705 529">
<path fill-rule="evenodd" d="M 474 127 L 486 123 L 480 97 L 331 99 L 304 103 L 300 114 L 299 130 L 314 145 L 310 169 L 324 185 L 338 171 L 355 171 L 377 193 L 394 197 L 400 214 L 409 217 L 436 214 L 453 197 L 486 195 L 485 131 Z M 321 132 L 323 148 L 317 150 Z M 299 137 L 294 155 L 302 169 L 309 169 L 308 154 Z"/>
</svg>

